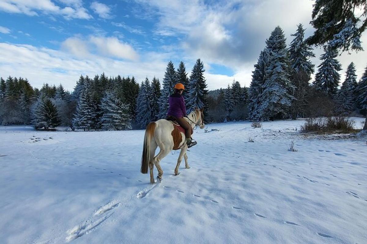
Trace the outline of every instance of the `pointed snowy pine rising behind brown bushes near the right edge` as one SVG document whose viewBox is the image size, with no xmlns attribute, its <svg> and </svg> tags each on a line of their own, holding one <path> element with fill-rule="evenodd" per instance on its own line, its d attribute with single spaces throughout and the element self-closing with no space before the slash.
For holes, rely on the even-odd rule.
<svg viewBox="0 0 367 244">
<path fill-rule="evenodd" d="M 336 102 L 338 105 L 337 111 L 341 115 L 350 115 L 356 109 L 356 87 L 356 68 L 352 62 L 348 65 L 345 81 L 343 82 L 336 97 Z"/>
</svg>

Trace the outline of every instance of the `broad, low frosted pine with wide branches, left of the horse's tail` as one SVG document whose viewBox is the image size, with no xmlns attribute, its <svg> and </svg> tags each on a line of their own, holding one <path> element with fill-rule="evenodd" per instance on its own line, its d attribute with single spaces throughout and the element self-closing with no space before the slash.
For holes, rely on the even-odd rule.
<svg viewBox="0 0 367 244">
<path fill-rule="evenodd" d="M 117 97 L 115 90 L 111 89 L 105 93 L 101 108 L 103 111 L 101 123 L 104 130 L 131 129 L 129 106 Z"/>
</svg>

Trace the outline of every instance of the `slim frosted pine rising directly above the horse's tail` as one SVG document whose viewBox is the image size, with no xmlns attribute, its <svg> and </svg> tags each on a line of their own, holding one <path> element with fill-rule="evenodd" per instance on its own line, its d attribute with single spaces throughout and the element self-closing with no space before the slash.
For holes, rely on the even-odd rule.
<svg viewBox="0 0 367 244">
<path fill-rule="evenodd" d="M 140 128 L 145 128 L 152 121 L 152 87 L 149 79 L 141 83 L 138 98 L 136 121 Z"/>
</svg>

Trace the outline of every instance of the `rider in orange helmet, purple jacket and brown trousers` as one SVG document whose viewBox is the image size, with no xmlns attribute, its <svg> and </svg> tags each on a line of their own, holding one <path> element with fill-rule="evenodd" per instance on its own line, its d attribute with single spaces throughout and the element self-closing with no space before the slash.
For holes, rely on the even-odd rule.
<svg viewBox="0 0 367 244">
<path fill-rule="evenodd" d="M 185 90 L 185 86 L 182 83 L 177 83 L 174 87 L 175 91 L 170 98 L 168 99 L 170 103 L 170 108 L 167 112 L 167 117 L 174 117 L 178 124 L 181 125 L 182 128 L 185 129 L 186 135 L 186 144 L 188 147 L 192 147 L 196 144 L 191 139 L 191 135 L 193 134 L 192 127 L 183 117 L 186 117 L 186 106 L 185 99 L 183 99 L 182 93 Z"/>
</svg>

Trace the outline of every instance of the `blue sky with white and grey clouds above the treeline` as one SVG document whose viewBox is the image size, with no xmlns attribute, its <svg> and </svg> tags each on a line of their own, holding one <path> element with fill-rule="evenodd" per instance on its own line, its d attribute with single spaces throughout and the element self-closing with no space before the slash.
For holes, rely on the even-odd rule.
<svg viewBox="0 0 367 244">
<path fill-rule="evenodd" d="M 208 89 L 233 80 L 249 86 L 265 40 L 276 26 L 287 44 L 302 23 L 313 33 L 311 0 L 0 0 L 0 76 L 21 76 L 40 88 L 72 91 L 80 75 L 105 72 L 163 79 L 168 61 L 189 73 L 204 63 Z M 362 35 L 367 49 L 367 32 Z M 315 48 L 317 66 L 322 49 Z M 358 78 L 367 50 L 342 53 L 341 82 L 350 62 Z M 317 68 L 316 68 L 317 70 Z"/>
</svg>

